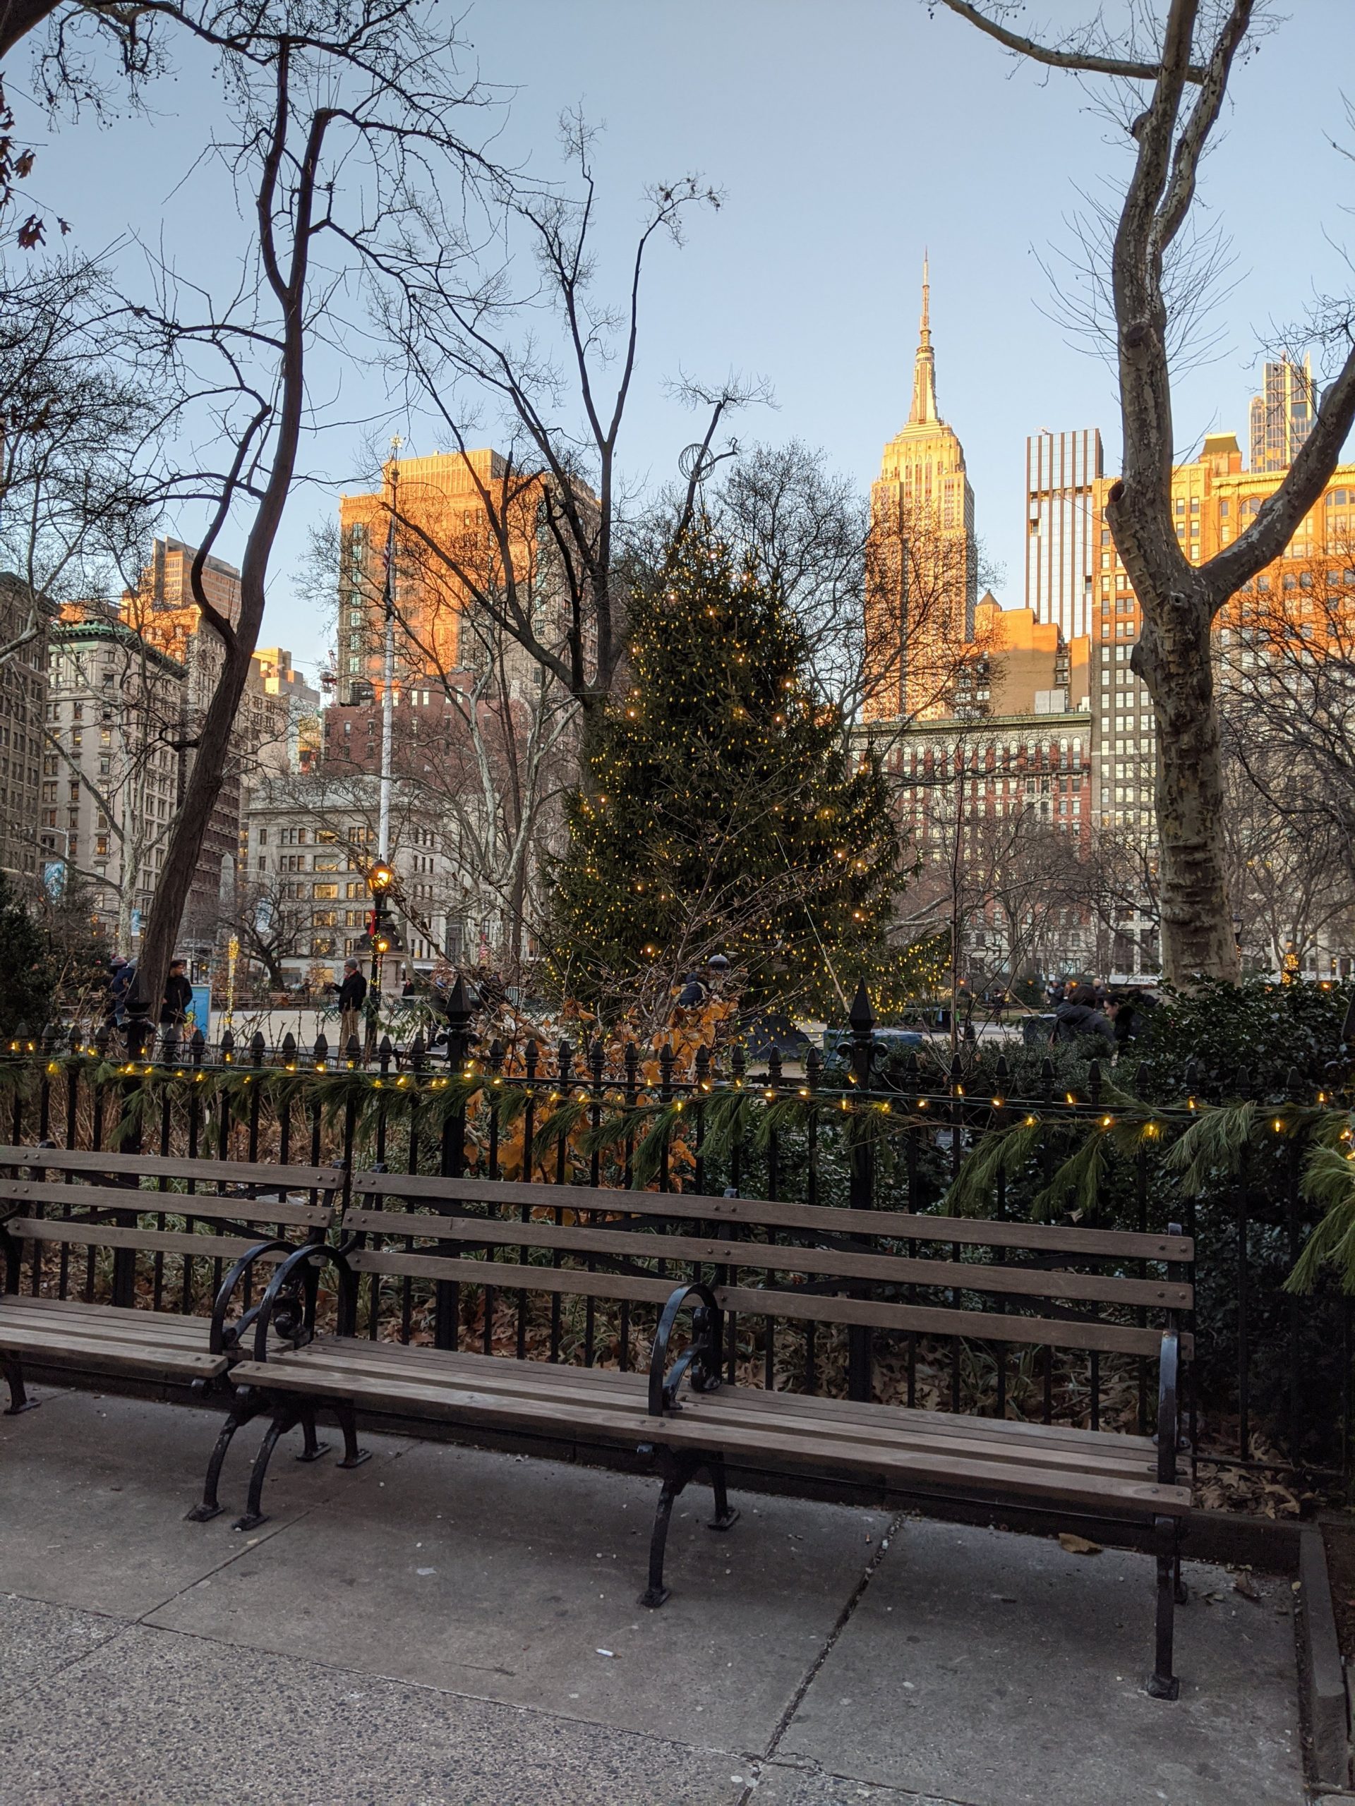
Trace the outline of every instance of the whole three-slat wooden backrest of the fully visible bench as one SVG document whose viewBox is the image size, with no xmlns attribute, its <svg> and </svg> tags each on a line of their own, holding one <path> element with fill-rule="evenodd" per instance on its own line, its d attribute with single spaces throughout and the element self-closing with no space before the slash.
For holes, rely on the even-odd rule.
<svg viewBox="0 0 1355 1806">
<path fill-rule="evenodd" d="M 1124 1354 L 1156 1354 L 1192 1306 L 1185 1235 L 752 1197 L 358 1172 L 343 1233 L 374 1286 L 661 1308 L 705 1280 L 730 1313 Z"/>
</svg>

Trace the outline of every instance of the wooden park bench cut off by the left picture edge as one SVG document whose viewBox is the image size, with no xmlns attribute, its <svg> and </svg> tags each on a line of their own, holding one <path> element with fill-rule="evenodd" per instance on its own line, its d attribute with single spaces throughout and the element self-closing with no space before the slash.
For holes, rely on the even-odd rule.
<svg viewBox="0 0 1355 1806">
<path fill-rule="evenodd" d="M 215 1391 L 262 1302 L 253 1300 L 255 1268 L 273 1270 L 300 1244 L 323 1243 L 343 1178 L 332 1167 L 0 1147 L 5 1414 L 36 1403 L 23 1385 L 25 1360 Z M 159 1188 L 143 1188 L 143 1179 Z M 213 1297 L 210 1317 L 195 1309 L 204 1297 Z M 168 1299 L 175 1309 L 164 1308 Z M 309 1335 L 313 1275 L 275 1293 L 269 1317 L 275 1344 Z M 248 1394 L 231 1396 L 204 1503 L 190 1515 L 220 1510 L 226 1448 L 253 1414 Z M 307 1436 L 309 1457 L 318 1452 Z"/>
</svg>

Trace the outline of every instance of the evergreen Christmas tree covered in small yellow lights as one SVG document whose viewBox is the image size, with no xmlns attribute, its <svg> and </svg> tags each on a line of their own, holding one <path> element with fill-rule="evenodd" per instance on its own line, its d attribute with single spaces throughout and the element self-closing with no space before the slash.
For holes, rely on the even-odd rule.
<svg viewBox="0 0 1355 1806">
<path fill-rule="evenodd" d="M 874 968 L 900 849 L 780 601 L 690 538 L 631 601 L 631 663 L 589 740 L 555 874 L 560 986 L 603 1010 L 714 954 L 748 1004 L 838 1013 Z"/>
</svg>

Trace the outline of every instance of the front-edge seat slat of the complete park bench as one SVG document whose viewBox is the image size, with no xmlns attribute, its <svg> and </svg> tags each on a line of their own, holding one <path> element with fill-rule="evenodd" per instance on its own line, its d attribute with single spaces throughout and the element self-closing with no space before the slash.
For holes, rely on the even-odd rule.
<svg viewBox="0 0 1355 1806">
<path fill-rule="evenodd" d="M 948 1452 L 932 1454 L 912 1448 L 878 1448 L 874 1445 L 835 1439 L 831 1445 L 809 1434 L 786 1434 L 753 1425 L 739 1425 L 737 1432 L 712 1436 L 687 1412 L 674 1418 L 632 1416 L 629 1412 L 573 1409 L 564 1418 L 542 1398 L 511 1398 L 477 1392 L 472 1387 L 450 1389 L 437 1383 L 419 1383 L 394 1374 L 374 1378 L 345 1376 L 307 1360 L 309 1351 L 284 1353 L 269 1362 L 240 1362 L 233 1369 L 237 1383 L 271 1385 L 309 1391 L 327 1398 L 352 1398 L 374 1410 L 412 1407 L 417 1414 L 444 1418 L 482 1418 L 508 1427 L 533 1425 L 558 1430 L 565 1423 L 576 1434 L 594 1434 L 609 1441 L 652 1441 L 696 1448 L 719 1447 L 735 1457 L 773 1457 L 793 1466 L 840 1470 L 864 1468 L 898 1485 L 929 1483 L 932 1486 L 968 1485 L 999 1495 L 1024 1494 L 1064 1501 L 1118 1504 L 1138 1515 L 1183 1515 L 1191 1504 L 1187 1486 L 1158 1486 L 1154 1481 L 1113 1477 L 1107 1474 L 1070 1474 L 1044 1466 L 1014 1466 L 997 1461 L 976 1461 Z"/>
</svg>

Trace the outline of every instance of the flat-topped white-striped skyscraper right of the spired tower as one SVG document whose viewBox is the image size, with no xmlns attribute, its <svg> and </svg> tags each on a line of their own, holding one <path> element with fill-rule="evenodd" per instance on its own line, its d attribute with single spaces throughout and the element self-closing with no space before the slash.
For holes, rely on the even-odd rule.
<svg viewBox="0 0 1355 1806">
<path fill-rule="evenodd" d="M 1033 433 L 1026 439 L 1026 607 L 1064 639 L 1091 632 L 1095 509 L 1102 475 L 1100 433 Z"/>
</svg>

